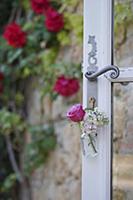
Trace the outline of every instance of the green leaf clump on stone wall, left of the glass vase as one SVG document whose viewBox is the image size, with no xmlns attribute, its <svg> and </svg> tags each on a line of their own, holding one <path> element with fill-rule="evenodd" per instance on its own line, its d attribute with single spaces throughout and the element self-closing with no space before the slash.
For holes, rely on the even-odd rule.
<svg viewBox="0 0 133 200">
<path fill-rule="evenodd" d="M 53 126 L 32 126 L 29 133 L 31 142 L 26 145 L 24 161 L 25 174 L 28 176 L 47 161 L 49 153 L 56 146 Z"/>
</svg>

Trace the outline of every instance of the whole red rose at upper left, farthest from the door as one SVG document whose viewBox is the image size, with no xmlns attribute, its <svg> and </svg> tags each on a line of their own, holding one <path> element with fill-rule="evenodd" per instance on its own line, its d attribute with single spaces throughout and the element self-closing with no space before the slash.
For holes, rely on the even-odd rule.
<svg viewBox="0 0 133 200">
<path fill-rule="evenodd" d="M 16 23 L 7 25 L 3 36 L 9 45 L 15 48 L 23 47 L 26 44 L 26 33 Z"/>
</svg>

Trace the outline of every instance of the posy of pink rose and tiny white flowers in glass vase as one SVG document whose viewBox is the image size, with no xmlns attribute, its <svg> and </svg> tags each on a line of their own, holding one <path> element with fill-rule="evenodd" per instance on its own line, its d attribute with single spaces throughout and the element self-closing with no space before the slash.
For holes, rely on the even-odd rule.
<svg viewBox="0 0 133 200">
<path fill-rule="evenodd" d="M 108 117 L 97 107 L 83 109 L 81 104 L 72 106 L 67 112 L 67 117 L 80 125 L 83 154 L 96 156 L 98 154 L 97 134 L 100 128 L 109 123 Z"/>
</svg>

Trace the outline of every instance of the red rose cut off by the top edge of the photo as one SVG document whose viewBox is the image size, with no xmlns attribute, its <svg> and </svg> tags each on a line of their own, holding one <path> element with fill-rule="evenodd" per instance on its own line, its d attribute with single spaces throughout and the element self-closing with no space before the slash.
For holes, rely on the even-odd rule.
<svg viewBox="0 0 133 200">
<path fill-rule="evenodd" d="M 36 14 L 43 14 L 49 7 L 48 0 L 31 0 L 31 7 Z"/>
</svg>

